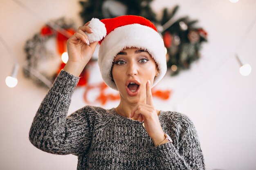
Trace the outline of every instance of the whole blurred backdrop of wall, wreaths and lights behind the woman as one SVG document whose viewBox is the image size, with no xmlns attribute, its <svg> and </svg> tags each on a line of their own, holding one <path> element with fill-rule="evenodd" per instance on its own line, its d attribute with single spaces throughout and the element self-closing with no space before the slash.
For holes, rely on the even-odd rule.
<svg viewBox="0 0 256 170">
<path fill-rule="evenodd" d="M 155 107 L 191 118 L 207 170 L 256 170 L 256 1 L 231 1 L 0 0 L 0 169 L 76 170 L 76 156 L 30 143 L 31 123 L 65 66 L 67 38 L 90 18 L 132 14 L 154 22 L 166 46 Z M 103 84 L 97 50 L 81 77 L 68 115 L 119 104 Z"/>
</svg>

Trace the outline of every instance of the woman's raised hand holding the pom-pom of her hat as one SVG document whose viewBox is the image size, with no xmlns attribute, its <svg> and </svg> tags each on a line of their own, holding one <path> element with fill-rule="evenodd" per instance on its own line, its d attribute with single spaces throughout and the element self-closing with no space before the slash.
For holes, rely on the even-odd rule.
<svg viewBox="0 0 256 170">
<path fill-rule="evenodd" d="M 84 26 L 79 26 L 76 33 L 67 40 L 68 61 L 63 69 L 77 77 L 91 59 L 98 43 L 92 42 L 88 45 L 88 36 L 84 32 L 92 33 L 92 30 L 88 26 L 89 23 L 90 21 Z"/>
</svg>

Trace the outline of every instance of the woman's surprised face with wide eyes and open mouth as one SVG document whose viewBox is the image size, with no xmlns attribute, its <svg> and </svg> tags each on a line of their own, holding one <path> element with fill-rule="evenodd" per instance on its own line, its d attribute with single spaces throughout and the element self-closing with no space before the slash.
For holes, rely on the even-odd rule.
<svg viewBox="0 0 256 170">
<path fill-rule="evenodd" d="M 150 54 L 137 48 L 128 48 L 117 54 L 112 76 L 121 100 L 130 104 L 146 102 L 146 83 L 153 84 L 157 65 Z"/>
</svg>

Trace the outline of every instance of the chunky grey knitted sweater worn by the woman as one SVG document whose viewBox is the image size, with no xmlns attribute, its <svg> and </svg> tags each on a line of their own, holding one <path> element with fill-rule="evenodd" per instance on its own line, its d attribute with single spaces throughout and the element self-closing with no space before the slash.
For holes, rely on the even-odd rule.
<svg viewBox="0 0 256 170">
<path fill-rule="evenodd" d="M 84 106 L 67 116 L 79 77 L 61 70 L 33 119 L 29 140 L 52 154 L 78 157 L 77 170 L 205 170 L 192 121 L 160 111 L 159 121 L 173 143 L 154 147 L 142 123 L 115 109 Z"/>
</svg>

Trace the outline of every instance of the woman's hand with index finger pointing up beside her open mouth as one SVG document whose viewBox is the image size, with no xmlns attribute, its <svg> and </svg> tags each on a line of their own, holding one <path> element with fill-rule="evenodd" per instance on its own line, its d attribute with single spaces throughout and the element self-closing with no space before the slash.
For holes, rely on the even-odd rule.
<svg viewBox="0 0 256 170">
<path fill-rule="evenodd" d="M 144 121 L 145 129 L 155 145 L 164 140 L 164 131 L 159 122 L 157 111 L 153 106 L 150 81 L 146 83 L 146 104 L 138 103 L 132 109 L 130 117 L 138 117 L 140 122 Z"/>
</svg>

